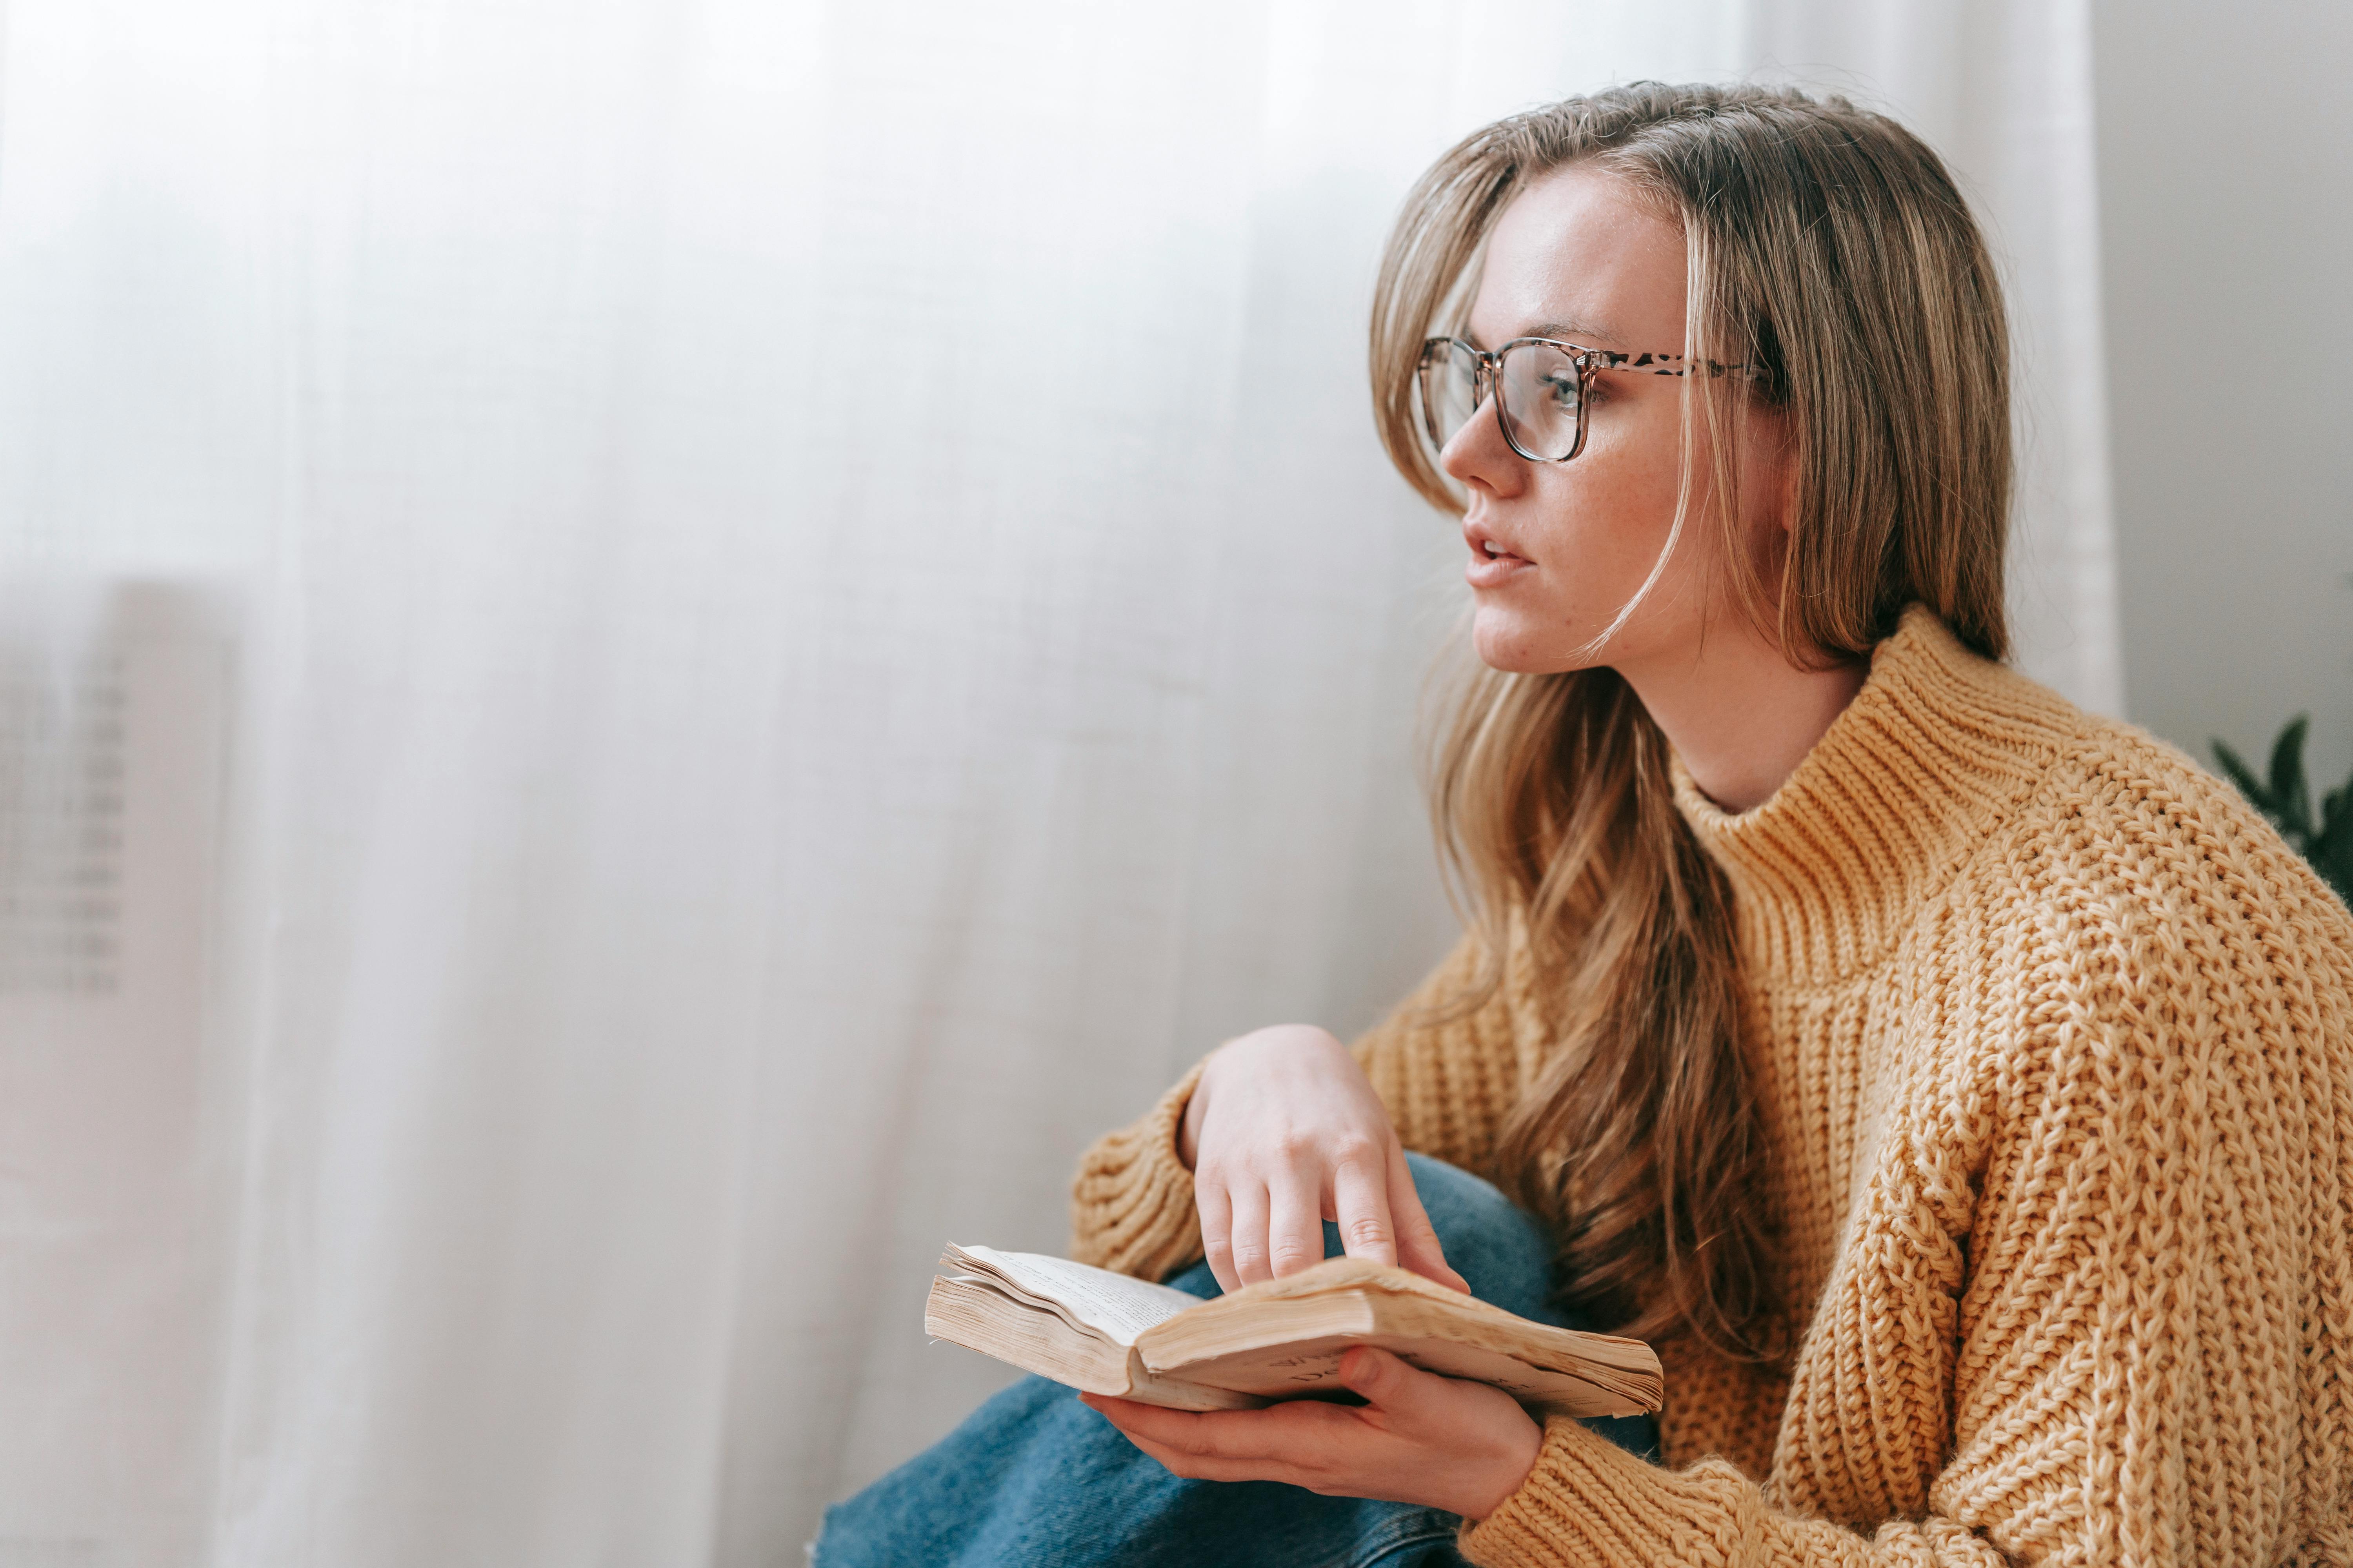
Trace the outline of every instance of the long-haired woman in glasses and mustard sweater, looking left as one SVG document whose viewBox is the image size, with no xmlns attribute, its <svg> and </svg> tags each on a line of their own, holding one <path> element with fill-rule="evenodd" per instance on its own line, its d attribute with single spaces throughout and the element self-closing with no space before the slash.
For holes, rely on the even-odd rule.
<svg viewBox="0 0 2353 1568">
<path fill-rule="evenodd" d="M 1075 1251 L 1233 1288 L 1332 1220 L 1454 1284 L 1402 1150 L 1449 1161 L 1659 1345 L 1661 1453 L 1377 1349 L 1360 1408 L 1087 1403 L 1193 1519 L 1292 1483 L 1473 1563 L 2353 1561 L 2353 917 L 1998 663 L 2007 341 L 1937 158 L 1765 89 L 1518 115 L 1409 197 L 1372 336 L 1471 548 L 1473 931 L 1353 1051 L 1247 1034 L 1099 1143 Z M 1155 1507 L 1054 1561 L 1162 1561 Z"/>
</svg>

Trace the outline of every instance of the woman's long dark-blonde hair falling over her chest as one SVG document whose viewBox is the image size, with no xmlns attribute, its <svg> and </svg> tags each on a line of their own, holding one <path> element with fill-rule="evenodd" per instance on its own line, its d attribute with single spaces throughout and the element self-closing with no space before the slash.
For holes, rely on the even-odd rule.
<svg viewBox="0 0 2353 1568">
<path fill-rule="evenodd" d="M 1468 310 L 1482 244 L 1532 179 L 1586 165 L 1682 228 L 1685 353 L 1762 378 L 1685 388 L 1682 534 L 1708 451 L 1734 599 L 1795 663 L 1864 658 L 1920 602 L 2007 654 L 2009 341 L 2000 284 L 1939 158 L 1845 99 L 1638 82 L 1499 120 L 1421 176 L 1381 261 L 1372 390 L 1398 470 L 1461 498 L 1414 409 L 1421 339 Z M 1734 527 L 1753 402 L 1781 414 L 1795 491 L 1779 590 Z M 1440 849 L 1487 973 L 1527 959 L 1553 1051 L 1497 1164 L 1562 1248 L 1562 1298 L 1626 1333 L 1781 1354 L 1765 1147 L 1741 1063 L 1732 891 L 1675 811 L 1668 748 L 1607 668 L 1478 670 L 1431 755 Z"/>
</svg>

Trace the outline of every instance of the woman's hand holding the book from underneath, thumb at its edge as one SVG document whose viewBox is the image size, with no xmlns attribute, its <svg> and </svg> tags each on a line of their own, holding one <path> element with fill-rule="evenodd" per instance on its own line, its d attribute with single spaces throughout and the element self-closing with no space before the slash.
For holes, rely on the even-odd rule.
<svg viewBox="0 0 2353 1568">
<path fill-rule="evenodd" d="M 1362 1406 L 1294 1399 L 1266 1410 L 1162 1410 L 1080 1394 L 1169 1472 L 1195 1481 L 1287 1481 L 1485 1519 L 1527 1479 L 1544 1427 L 1504 1389 L 1440 1378 L 1358 1345 L 1339 1380 Z"/>
</svg>

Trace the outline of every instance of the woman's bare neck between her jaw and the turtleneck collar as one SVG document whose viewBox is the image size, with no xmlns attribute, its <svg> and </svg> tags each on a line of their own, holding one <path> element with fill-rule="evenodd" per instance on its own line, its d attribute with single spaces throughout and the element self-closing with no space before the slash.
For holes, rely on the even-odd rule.
<svg viewBox="0 0 2353 1568">
<path fill-rule="evenodd" d="M 1868 661 L 1800 670 L 1746 621 L 1715 628 L 1697 654 L 1617 665 L 1652 722 L 1725 811 L 1751 811 L 1798 771 L 1845 712 Z"/>
</svg>

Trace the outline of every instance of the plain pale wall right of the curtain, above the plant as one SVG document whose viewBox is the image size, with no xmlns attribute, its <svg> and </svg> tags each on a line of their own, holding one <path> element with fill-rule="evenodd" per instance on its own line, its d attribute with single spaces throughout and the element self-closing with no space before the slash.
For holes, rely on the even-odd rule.
<svg viewBox="0 0 2353 1568">
<path fill-rule="evenodd" d="M 2099 0 L 2129 715 L 2353 766 L 2353 7 Z"/>
</svg>

